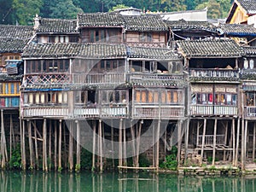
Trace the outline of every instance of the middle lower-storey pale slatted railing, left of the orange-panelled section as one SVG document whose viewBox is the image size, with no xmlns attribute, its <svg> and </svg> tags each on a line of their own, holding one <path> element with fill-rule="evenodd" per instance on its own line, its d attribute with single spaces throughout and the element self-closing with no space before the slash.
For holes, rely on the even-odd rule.
<svg viewBox="0 0 256 192">
<path fill-rule="evenodd" d="M 122 118 L 128 115 L 127 108 L 74 108 L 74 118 Z"/>
</svg>

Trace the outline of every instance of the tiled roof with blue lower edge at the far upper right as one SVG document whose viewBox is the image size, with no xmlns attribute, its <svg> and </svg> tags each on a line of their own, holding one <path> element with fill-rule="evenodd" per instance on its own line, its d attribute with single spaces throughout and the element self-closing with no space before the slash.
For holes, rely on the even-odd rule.
<svg viewBox="0 0 256 192">
<path fill-rule="evenodd" d="M 256 36 L 256 28 L 252 25 L 245 24 L 220 24 L 219 28 L 224 34 L 227 35 L 236 35 L 236 36 L 247 36 L 247 35 L 255 35 Z"/>
</svg>

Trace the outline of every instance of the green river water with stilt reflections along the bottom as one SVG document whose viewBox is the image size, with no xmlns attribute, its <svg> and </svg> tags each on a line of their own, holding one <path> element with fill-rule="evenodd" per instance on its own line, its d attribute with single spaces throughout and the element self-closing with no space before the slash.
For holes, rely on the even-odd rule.
<svg viewBox="0 0 256 192">
<path fill-rule="evenodd" d="M 67 191 L 255 191 L 256 176 L 251 177 L 180 177 L 148 172 L 118 174 L 114 172 L 1 172 L 0 191 L 67 192 Z"/>
</svg>

